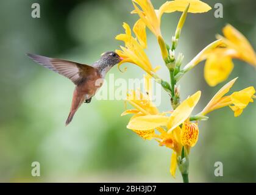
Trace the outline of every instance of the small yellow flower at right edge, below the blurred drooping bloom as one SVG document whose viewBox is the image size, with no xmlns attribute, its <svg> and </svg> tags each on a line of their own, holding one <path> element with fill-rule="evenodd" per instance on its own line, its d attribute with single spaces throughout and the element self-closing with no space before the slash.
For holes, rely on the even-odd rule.
<svg viewBox="0 0 256 195">
<path fill-rule="evenodd" d="M 253 102 L 252 98 L 255 98 L 255 89 L 254 87 L 247 87 L 244 90 L 232 93 L 230 96 L 224 96 L 229 92 L 236 79 L 237 78 L 231 80 L 215 94 L 204 110 L 202 110 L 201 115 L 207 115 L 207 113 L 212 112 L 213 110 L 226 106 L 229 106 L 233 110 L 234 116 L 241 115 L 243 109 L 247 107 L 249 102 Z"/>
</svg>

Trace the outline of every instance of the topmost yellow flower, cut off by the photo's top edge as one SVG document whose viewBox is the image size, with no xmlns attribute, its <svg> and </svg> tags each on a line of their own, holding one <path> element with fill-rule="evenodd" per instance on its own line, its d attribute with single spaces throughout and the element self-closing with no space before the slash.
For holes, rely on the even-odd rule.
<svg viewBox="0 0 256 195">
<path fill-rule="evenodd" d="M 135 10 L 132 13 L 137 13 L 144 24 L 156 36 L 162 36 L 160 30 L 161 18 L 163 13 L 183 12 L 187 5 L 190 4 L 190 13 L 208 12 L 211 7 L 199 0 L 175 0 L 167 1 L 159 10 L 155 10 L 150 0 L 132 0 Z M 141 9 L 137 6 L 139 5 Z"/>
</svg>

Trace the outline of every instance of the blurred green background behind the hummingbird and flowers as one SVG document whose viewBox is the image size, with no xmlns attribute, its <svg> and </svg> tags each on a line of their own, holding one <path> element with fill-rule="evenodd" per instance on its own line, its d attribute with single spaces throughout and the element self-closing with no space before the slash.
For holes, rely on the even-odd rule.
<svg viewBox="0 0 256 195">
<path fill-rule="evenodd" d="M 171 151 L 155 141 L 142 141 L 126 129 L 130 116 L 121 117 L 124 101 L 96 101 L 84 104 L 73 122 L 64 126 L 73 94 L 73 83 L 26 57 L 26 52 L 91 64 L 104 51 L 121 42 L 122 23 L 133 25 L 137 15 L 129 0 L 36 1 L 41 18 L 31 17 L 35 1 L 0 2 L 0 182 L 181 182 L 169 174 Z M 165 1 L 152 0 L 158 8 Z M 214 11 L 188 14 L 178 51 L 185 63 L 221 34 L 230 23 L 243 32 L 256 48 L 254 0 L 208 0 L 224 5 L 224 18 Z M 165 14 L 162 32 L 166 40 L 174 34 L 180 12 Z M 152 64 L 163 65 L 155 37 L 148 33 L 148 54 Z M 256 86 L 255 69 L 234 60 L 233 90 Z M 141 78 L 143 71 L 126 65 L 117 68 L 115 78 Z M 204 63 L 197 65 L 180 82 L 182 98 L 202 91 L 196 108 L 200 111 L 224 85 L 208 87 Z M 160 75 L 168 79 L 163 66 Z M 107 77 L 108 79 L 108 77 Z M 104 85 L 107 87 L 107 85 Z M 162 94 L 160 109 L 169 110 L 169 98 Z M 256 104 L 250 104 L 239 118 L 229 108 L 210 113 L 200 123 L 199 141 L 190 157 L 191 182 L 256 182 Z M 195 113 L 196 113 L 195 112 Z M 31 176 L 32 161 L 39 161 L 41 176 Z M 224 165 L 224 176 L 215 177 L 215 161 Z"/>
</svg>

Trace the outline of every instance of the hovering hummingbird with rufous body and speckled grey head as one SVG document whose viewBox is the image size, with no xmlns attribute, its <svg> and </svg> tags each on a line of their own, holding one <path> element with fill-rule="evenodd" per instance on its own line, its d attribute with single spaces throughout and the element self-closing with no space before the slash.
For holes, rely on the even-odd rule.
<svg viewBox="0 0 256 195">
<path fill-rule="evenodd" d="M 83 102 L 90 103 L 91 98 L 102 86 L 103 79 L 107 72 L 116 64 L 123 60 L 116 52 L 110 51 L 101 54 L 98 61 L 93 65 L 86 65 L 69 60 L 52 59 L 42 55 L 27 54 L 30 59 L 45 68 L 51 69 L 55 73 L 70 79 L 75 85 L 72 104 L 65 126 L 72 121 Z"/>
</svg>

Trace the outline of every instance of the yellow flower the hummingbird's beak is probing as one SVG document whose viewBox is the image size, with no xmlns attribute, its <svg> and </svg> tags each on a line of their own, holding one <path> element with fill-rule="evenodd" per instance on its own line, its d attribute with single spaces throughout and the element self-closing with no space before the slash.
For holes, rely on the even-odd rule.
<svg viewBox="0 0 256 195">
<path fill-rule="evenodd" d="M 144 69 L 146 73 L 152 74 L 152 72 L 154 72 L 154 69 L 149 62 L 148 56 L 143 50 L 144 46 L 146 46 L 146 43 L 143 42 L 144 35 L 142 34 L 144 34 L 144 32 L 140 29 L 140 27 L 138 27 L 139 25 L 140 24 L 137 24 L 137 27 L 133 28 L 133 30 L 135 31 L 135 34 L 137 34 L 137 37 L 140 37 L 138 38 L 140 43 L 138 43 L 136 38 L 132 37 L 130 26 L 126 23 L 123 24 L 123 27 L 126 30 L 126 34 L 119 34 L 116 36 L 116 40 L 124 41 L 126 46 L 121 46 L 122 51 L 116 50 L 116 53 L 123 58 L 123 60 L 118 64 L 118 68 L 121 64 L 125 62 L 130 62 L 137 66 L 140 66 L 140 68 Z M 141 43 L 143 45 L 141 45 Z"/>
</svg>

